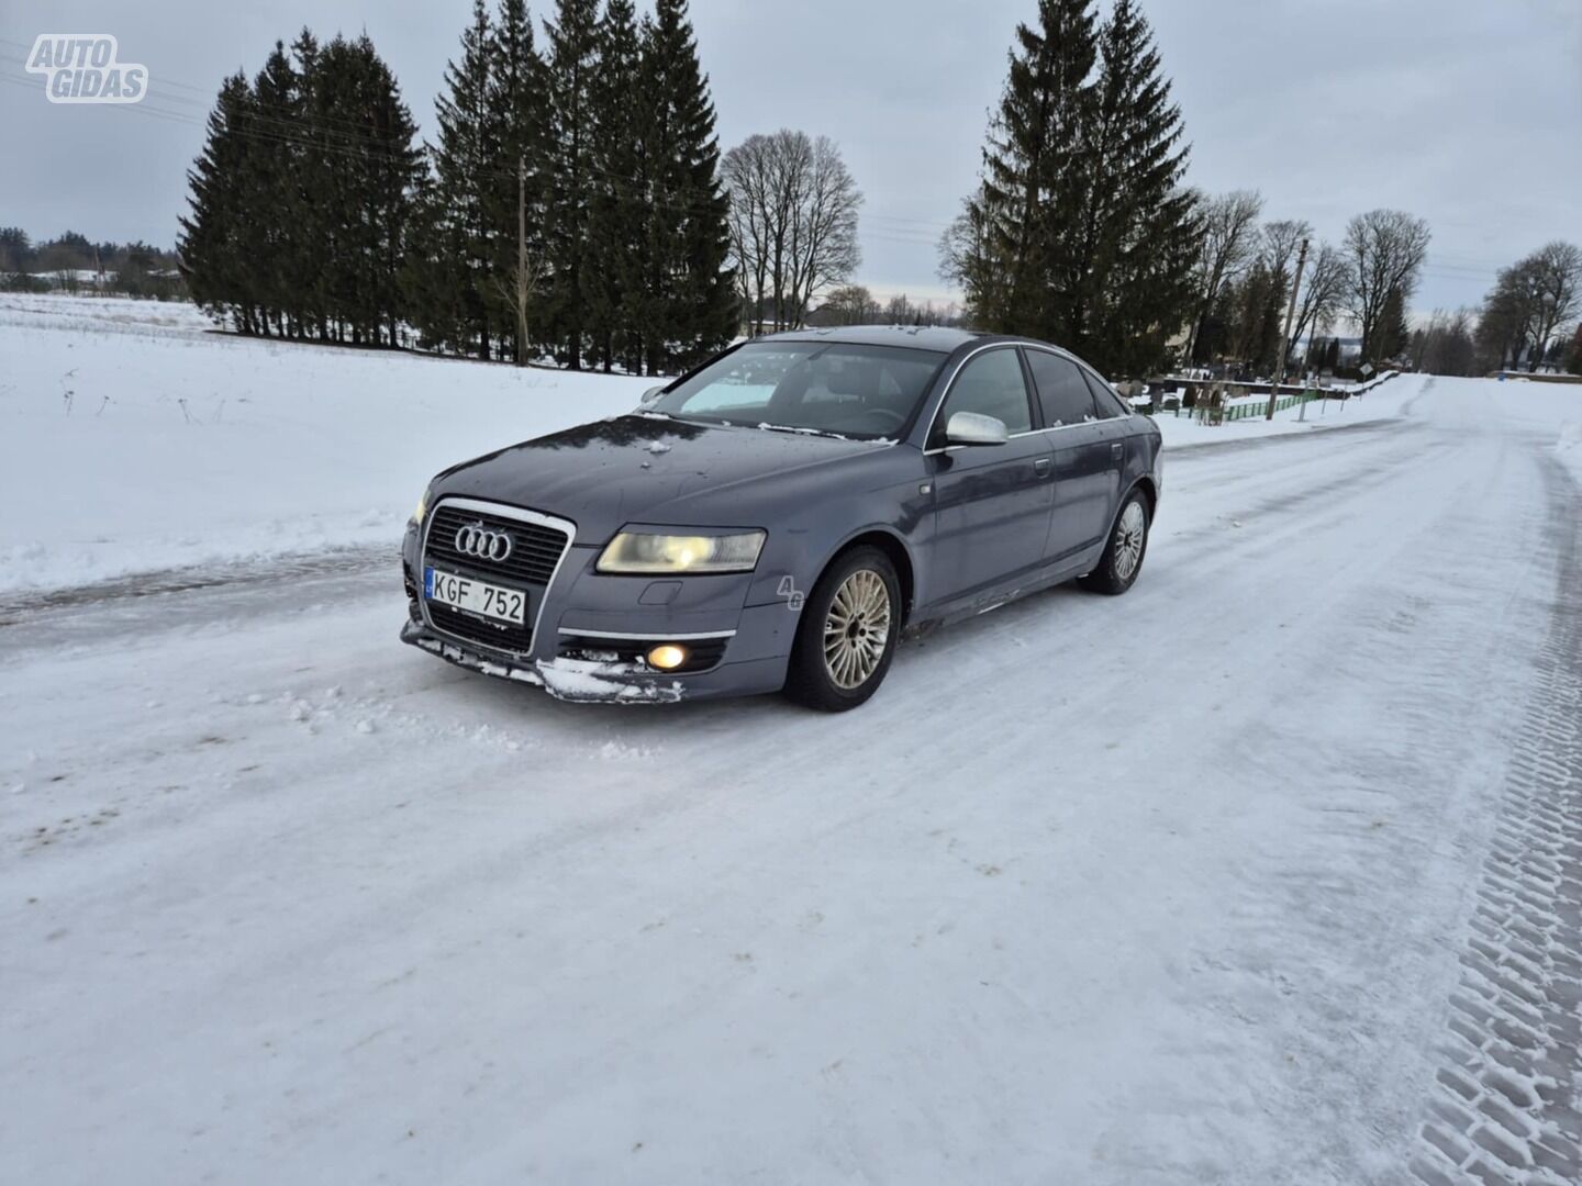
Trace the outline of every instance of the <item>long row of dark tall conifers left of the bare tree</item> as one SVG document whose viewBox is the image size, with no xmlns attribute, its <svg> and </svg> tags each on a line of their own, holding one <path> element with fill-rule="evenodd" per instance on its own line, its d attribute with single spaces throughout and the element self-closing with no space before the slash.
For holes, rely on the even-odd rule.
<svg viewBox="0 0 1582 1186">
<path fill-rule="evenodd" d="M 685 0 L 475 0 L 416 125 L 367 36 L 226 79 L 188 174 L 182 272 L 240 334 L 672 372 L 737 293 Z"/>
</svg>

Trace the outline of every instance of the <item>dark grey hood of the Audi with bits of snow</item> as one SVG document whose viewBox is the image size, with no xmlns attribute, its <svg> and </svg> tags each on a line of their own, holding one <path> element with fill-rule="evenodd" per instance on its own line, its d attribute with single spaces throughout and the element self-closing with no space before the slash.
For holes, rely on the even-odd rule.
<svg viewBox="0 0 1582 1186">
<path fill-rule="evenodd" d="M 630 414 L 464 462 L 440 474 L 433 492 L 560 516 L 577 525 L 577 544 L 603 544 L 625 523 L 763 527 L 770 487 L 888 448 Z"/>
</svg>

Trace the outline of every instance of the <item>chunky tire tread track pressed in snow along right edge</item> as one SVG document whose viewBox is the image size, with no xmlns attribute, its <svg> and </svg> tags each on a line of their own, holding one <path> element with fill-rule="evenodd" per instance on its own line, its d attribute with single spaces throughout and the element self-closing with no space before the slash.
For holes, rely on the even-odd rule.
<svg viewBox="0 0 1582 1186">
<path fill-rule="evenodd" d="M 1546 476 L 1549 639 L 1411 1159 L 1429 1186 L 1582 1181 L 1582 492 L 1554 463 Z"/>
</svg>

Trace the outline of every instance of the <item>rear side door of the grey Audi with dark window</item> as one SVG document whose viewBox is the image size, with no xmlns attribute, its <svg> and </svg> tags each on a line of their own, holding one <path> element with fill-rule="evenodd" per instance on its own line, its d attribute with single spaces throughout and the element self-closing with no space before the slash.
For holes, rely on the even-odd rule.
<svg viewBox="0 0 1582 1186">
<path fill-rule="evenodd" d="M 1099 421 L 1082 368 L 1049 349 L 1027 348 L 1027 365 L 1044 411 L 1044 435 L 1055 455 L 1055 503 L 1049 522 L 1049 558 L 1088 550 L 1109 533 L 1125 444 Z"/>
</svg>

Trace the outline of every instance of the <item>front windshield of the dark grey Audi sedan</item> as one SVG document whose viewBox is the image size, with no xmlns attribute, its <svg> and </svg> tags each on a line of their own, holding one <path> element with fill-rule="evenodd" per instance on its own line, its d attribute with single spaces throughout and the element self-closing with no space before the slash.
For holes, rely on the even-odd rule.
<svg viewBox="0 0 1582 1186">
<path fill-rule="evenodd" d="M 751 342 L 676 384 L 649 411 L 704 424 L 895 438 L 943 362 L 932 349 Z"/>
</svg>

